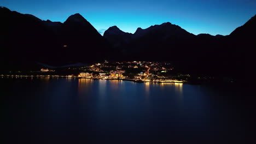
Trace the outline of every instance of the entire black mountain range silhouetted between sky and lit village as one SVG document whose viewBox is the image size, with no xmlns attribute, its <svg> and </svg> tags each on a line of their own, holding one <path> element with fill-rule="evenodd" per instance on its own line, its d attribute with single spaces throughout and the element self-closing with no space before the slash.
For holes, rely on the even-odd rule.
<svg viewBox="0 0 256 144">
<path fill-rule="evenodd" d="M 109 27 L 103 37 L 80 14 L 64 22 L 42 21 L 0 8 L 2 67 L 26 68 L 114 61 L 169 61 L 181 72 L 240 75 L 251 66 L 256 41 L 256 15 L 230 35 L 194 35 L 170 22 L 137 28 L 134 34 Z"/>
</svg>

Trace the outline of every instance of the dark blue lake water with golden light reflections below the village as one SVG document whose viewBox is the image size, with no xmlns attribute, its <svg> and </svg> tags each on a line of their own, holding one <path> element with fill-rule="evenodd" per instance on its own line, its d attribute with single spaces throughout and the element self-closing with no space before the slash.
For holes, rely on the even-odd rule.
<svg viewBox="0 0 256 144">
<path fill-rule="evenodd" d="M 8 142 L 254 139 L 248 88 L 67 78 L 1 78 L 0 84 Z"/>
</svg>

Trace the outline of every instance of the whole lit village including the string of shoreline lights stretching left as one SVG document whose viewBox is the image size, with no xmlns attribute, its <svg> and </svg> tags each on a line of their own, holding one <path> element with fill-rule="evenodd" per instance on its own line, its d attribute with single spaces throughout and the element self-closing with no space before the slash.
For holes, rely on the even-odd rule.
<svg viewBox="0 0 256 144">
<path fill-rule="evenodd" d="M 41 68 L 24 74 L 21 71 L 7 77 L 69 77 L 77 79 L 126 80 L 134 82 L 187 82 L 190 75 L 174 74 L 171 63 L 165 62 L 108 62 L 65 69 Z"/>
</svg>

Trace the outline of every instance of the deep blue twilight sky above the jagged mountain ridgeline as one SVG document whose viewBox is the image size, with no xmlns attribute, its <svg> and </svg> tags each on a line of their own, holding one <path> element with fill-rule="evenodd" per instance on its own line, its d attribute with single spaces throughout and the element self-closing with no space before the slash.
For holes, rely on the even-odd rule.
<svg viewBox="0 0 256 144">
<path fill-rule="evenodd" d="M 256 0 L 1 0 L 0 5 L 60 22 L 80 13 L 99 32 L 118 26 L 134 33 L 171 22 L 194 34 L 228 35 L 256 14 Z"/>
</svg>

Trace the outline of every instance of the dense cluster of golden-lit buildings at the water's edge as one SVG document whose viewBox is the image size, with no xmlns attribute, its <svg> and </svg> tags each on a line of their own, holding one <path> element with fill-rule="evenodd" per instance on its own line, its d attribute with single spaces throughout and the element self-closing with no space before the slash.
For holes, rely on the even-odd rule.
<svg viewBox="0 0 256 144">
<path fill-rule="evenodd" d="M 130 79 L 144 82 L 180 82 L 166 76 L 173 70 L 171 63 L 165 62 L 104 62 L 82 67 L 78 77 L 88 79 Z"/>
</svg>

